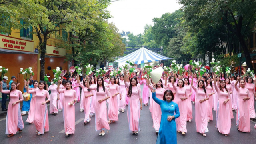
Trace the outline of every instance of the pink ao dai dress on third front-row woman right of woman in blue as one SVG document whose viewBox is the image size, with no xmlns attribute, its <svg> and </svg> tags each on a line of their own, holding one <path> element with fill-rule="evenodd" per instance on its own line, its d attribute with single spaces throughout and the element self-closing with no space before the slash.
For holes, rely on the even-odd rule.
<svg viewBox="0 0 256 144">
<path fill-rule="evenodd" d="M 229 102 L 224 104 L 223 102 L 229 98 L 229 92 L 225 89 L 224 91 L 218 88 L 217 84 L 214 84 L 215 90 L 218 93 L 218 105 L 216 114 L 216 127 L 222 134 L 229 134 L 231 129 L 231 118 L 230 118 L 230 106 Z"/>
</svg>

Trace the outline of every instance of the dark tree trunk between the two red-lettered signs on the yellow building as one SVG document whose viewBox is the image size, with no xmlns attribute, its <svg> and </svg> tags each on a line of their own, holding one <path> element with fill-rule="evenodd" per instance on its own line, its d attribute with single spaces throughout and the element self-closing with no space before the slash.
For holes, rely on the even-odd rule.
<svg viewBox="0 0 256 144">
<path fill-rule="evenodd" d="M 44 36 L 44 41 L 40 43 L 40 48 L 41 48 L 41 71 L 40 71 L 40 80 L 44 80 L 44 75 L 45 75 L 45 70 L 44 70 L 44 64 L 45 64 L 45 53 L 46 53 L 46 44 L 47 44 L 47 34 Z"/>
</svg>

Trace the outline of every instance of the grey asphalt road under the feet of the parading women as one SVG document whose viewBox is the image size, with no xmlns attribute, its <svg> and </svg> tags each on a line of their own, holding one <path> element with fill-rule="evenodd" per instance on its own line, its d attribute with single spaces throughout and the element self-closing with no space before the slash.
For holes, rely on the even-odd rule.
<svg viewBox="0 0 256 144">
<path fill-rule="evenodd" d="M 143 86 L 141 86 L 143 88 Z M 105 136 L 99 136 L 99 132 L 95 132 L 94 117 L 91 122 L 84 126 L 84 112 L 80 112 L 80 103 L 76 104 L 76 130 L 75 134 L 70 137 L 65 137 L 63 132 L 64 122 L 62 112 L 57 116 L 49 115 L 50 131 L 45 132 L 44 135 L 37 136 L 36 128 L 33 124 L 28 124 L 26 121 L 28 115 L 22 116 L 24 122 L 24 130 L 17 133 L 11 138 L 5 134 L 6 118 L 0 117 L 0 140 L 1 144 L 155 144 L 156 133 L 151 118 L 151 113 L 148 106 L 143 106 L 140 116 L 140 129 L 138 136 L 132 135 L 128 129 L 127 113 L 119 114 L 119 121 L 115 124 L 110 124 L 110 130 L 106 130 Z M 127 107 L 126 107 L 127 108 Z M 194 104 L 192 104 L 194 115 Z M 48 106 L 49 110 L 49 106 Z M 215 112 L 214 112 L 215 114 Z M 215 128 L 216 116 L 214 121 L 208 123 L 209 132 L 206 137 L 196 132 L 196 125 L 194 119 L 188 122 L 185 136 L 177 134 L 178 144 L 256 144 L 256 130 L 254 129 L 255 122 L 251 121 L 251 132 L 238 132 L 236 126 L 236 113 L 234 112 L 234 119 L 232 119 L 232 127 L 228 137 L 218 133 Z"/>
</svg>

